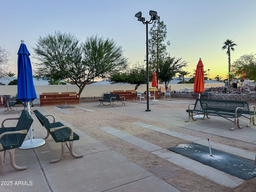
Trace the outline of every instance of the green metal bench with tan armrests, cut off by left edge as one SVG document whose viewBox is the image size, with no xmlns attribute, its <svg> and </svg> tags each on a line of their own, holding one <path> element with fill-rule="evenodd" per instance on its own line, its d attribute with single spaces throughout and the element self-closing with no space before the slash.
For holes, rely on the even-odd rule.
<svg viewBox="0 0 256 192">
<path fill-rule="evenodd" d="M 16 127 L 4 127 L 7 120 L 18 120 Z M 7 118 L 3 120 L 0 128 L 0 172 L 4 168 L 6 150 L 9 150 L 11 165 L 16 170 L 25 170 L 26 166 L 15 164 L 14 151 L 22 145 L 28 130 L 33 122 L 30 114 L 23 110 L 19 118 Z"/>
</svg>

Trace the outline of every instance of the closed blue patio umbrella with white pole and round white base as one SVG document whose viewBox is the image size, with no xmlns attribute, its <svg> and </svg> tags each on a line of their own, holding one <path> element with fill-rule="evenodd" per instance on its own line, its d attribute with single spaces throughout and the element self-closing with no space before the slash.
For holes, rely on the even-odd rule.
<svg viewBox="0 0 256 192">
<path fill-rule="evenodd" d="M 18 51 L 18 95 L 17 100 L 26 102 L 28 113 L 30 114 L 30 102 L 36 99 L 36 90 L 33 82 L 32 67 L 30 62 L 30 53 L 24 40 L 21 40 Z M 44 139 L 33 139 L 32 127 L 30 127 L 30 140 L 26 140 L 20 146 L 20 149 L 30 149 L 45 144 Z"/>
</svg>

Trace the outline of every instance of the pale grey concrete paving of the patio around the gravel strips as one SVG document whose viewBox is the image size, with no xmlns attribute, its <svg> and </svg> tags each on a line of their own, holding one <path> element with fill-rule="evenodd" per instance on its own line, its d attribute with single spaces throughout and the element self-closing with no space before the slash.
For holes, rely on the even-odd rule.
<svg viewBox="0 0 256 192">
<path fill-rule="evenodd" d="M 158 103 L 150 102 L 150 108 L 156 104 L 163 103 L 166 105 L 172 105 L 177 103 L 188 104 L 191 101 L 179 101 L 179 100 L 160 100 Z M 158 122 L 164 122 L 166 124 L 171 124 L 174 126 L 180 126 L 192 130 L 199 130 L 201 132 L 217 134 L 227 138 L 233 138 L 245 142 L 250 142 L 256 144 L 256 126 L 251 128 L 244 128 L 242 130 L 236 129 L 230 131 L 229 128 L 232 127 L 232 122 L 229 122 L 223 118 L 212 117 L 208 122 L 198 120 L 200 122 L 184 122 L 188 118 L 186 112 L 177 112 L 174 110 L 166 110 L 161 108 L 153 108 L 151 112 L 145 112 L 146 102 L 129 102 L 128 106 L 124 107 L 111 107 L 98 106 L 98 103 L 81 103 L 77 105 L 80 110 L 88 110 L 86 106 L 92 106 L 94 108 L 101 108 L 104 110 L 110 110 L 118 112 L 120 114 L 127 114 L 130 116 L 141 117 L 145 119 L 150 119 Z M 42 107 L 35 107 L 42 114 L 48 114 L 46 110 Z M 21 110 L 22 108 L 18 108 Z M 56 108 L 57 109 L 57 108 Z M 68 114 L 68 109 L 58 109 L 61 112 Z M 93 110 L 91 110 L 92 112 Z M 54 114 L 53 114 L 54 115 Z M 35 128 L 33 132 L 34 138 L 44 138 L 46 136 L 46 130 L 43 128 L 34 114 L 31 114 L 34 122 L 32 128 Z M 0 122 L 5 118 L 18 117 L 18 114 L 6 114 L 4 115 L 4 108 L 0 108 Z M 64 120 L 59 120 L 63 124 L 66 124 Z M 240 124 L 244 125 L 248 123 L 249 120 L 242 119 Z M 154 131 L 163 132 L 165 134 L 176 135 L 180 138 L 184 138 L 190 141 L 198 141 L 198 143 L 205 144 L 202 138 L 195 138 L 193 136 L 184 135 L 180 133 L 168 132 L 159 127 L 150 126 L 148 124 L 142 124 L 140 122 L 134 122 L 137 126 L 142 126 L 149 128 Z M 10 122 L 6 122 L 5 126 L 13 126 Z M 108 133 L 115 134 L 114 132 L 118 130 L 112 130 L 109 127 L 101 127 Z M 84 134 L 80 130 L 74 129 L 80 136 L 80 140 L 74 142 L 74 152 L 76 154 L 83 154 L 83 158 L 73 158 L 70 154 L 66 154 L 64 159 L 57 163 L 50 163 L 50 160 L 58 158 L 61 154 L 60 144 L 56 144 L 51 137 L 46 140 L 46 144 L 34 149 L 15 150 L 15 160 L 18 166 L 27 166 L 28 168 L 23 171 L 17 171 L 10 165 L 10 157 L 8 153 L 6 154 L 6 162 L 4 170 L 0 173 L 0 191 L 12 192 L 58 192 L 58 191 L 73 191 L 73 192 L 177 192 L 175 188 L 167 184 L 166 182 L 160 180 L 150 172 L 140 168 L 136 164 L 128 161 L 126 158 L 116 153 L 114 150 L 108 148 L 102 143 L 94 140 L 90 136 Z M 116 132 L 116 136 L 123 137 L 127 142 L 133 143 L 136 146 L 140 146 L 144 150 L 152 152 L 161 158 L 166 160 L 171 160 L 170 157 L 166 157 L 165 153 L 162 153 L 159 146 L 154 144 L 147 145 L 145 148 L 146 141 L 137 140 L 134 137 L 127 136 L 126 133 Z M 213 144 L 216 148 L 222 148 L 222 150 L 227 150 L 228 152 L 233 152 L 234 154 L 245 156 L 249 159 L 255 158 L 255 153 L 246 152 L 245 150 L 238 150 L 237 148 L 232 148 L 229 146 L 224 146 L 220 144 Z M 67 151 L 68 152 L 68 151 Z M 162 156 L 161 156 L 162 154 Z M 173 161 L 172 161 L 173 162 Z M 174 162 L 175 163 L 175 162 Z M 205 170 L 206 172 L 207 170 Z M 198 173 L 203 175 L 202 173 Z M 218 177 L 218 176 L 217 176 Z M 230 177 L 230 182 L 228 186 L 233 188 L 238 186 L 242 181 Z M 210 178 L 209 178 L 210 179 Z M 219 178 L 221 180 L 221 178 Z M 215 181 L 218 183 L 218 181 Z M 221 182 L 221 181 L 220 181 Z M 10 184 L 11 185 L 7 185 Z M 220 183 L 221 184 L 221 183 Z"/>
</svg>

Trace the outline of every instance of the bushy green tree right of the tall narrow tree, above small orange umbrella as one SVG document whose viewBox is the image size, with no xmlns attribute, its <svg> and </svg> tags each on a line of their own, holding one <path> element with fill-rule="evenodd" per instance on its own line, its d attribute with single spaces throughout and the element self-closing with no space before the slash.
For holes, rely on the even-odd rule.
<svg viewBox="0 0 256 192">
<path fill-rule="evenodd" d="M 175 56 L 167 56 L 163 63 L 159 65 L 158 79 L 163 82 L 165 88 L 168 88 L 168 84 L 172 78 L 176 76 L 183 67 L 186 67 L 188 62 L 182 60 L 182 58 L 176 58 Z"/>
</svg>

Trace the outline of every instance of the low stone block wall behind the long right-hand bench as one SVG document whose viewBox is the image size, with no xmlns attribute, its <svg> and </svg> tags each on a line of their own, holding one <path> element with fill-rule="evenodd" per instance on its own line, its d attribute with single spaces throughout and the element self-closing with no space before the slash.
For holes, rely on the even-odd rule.
<svg viewBox="0 0 256 192">
<path fill-rule="evenodd" d="M 191 93 L 172 93 L 171 97 L 175 98 L 195 98 Z M 201 98 L 207 98 L 207 96 L 202 96 Z M 245 101 L 256 101 L 256 93 L 246 93 L 246 94 L 212 94 L 211 99 L 220 100 L 245 100 Z"/>
</svg>

